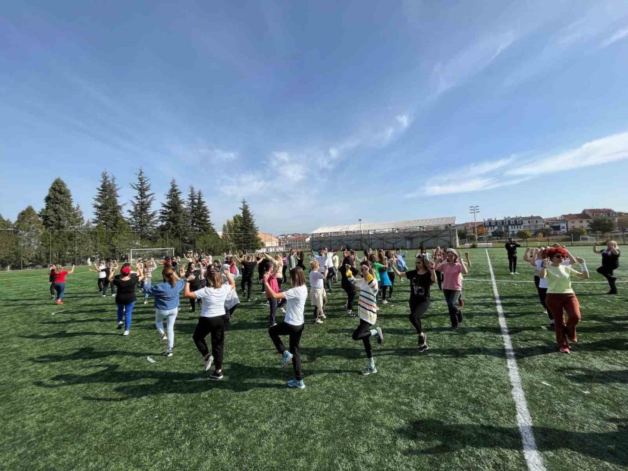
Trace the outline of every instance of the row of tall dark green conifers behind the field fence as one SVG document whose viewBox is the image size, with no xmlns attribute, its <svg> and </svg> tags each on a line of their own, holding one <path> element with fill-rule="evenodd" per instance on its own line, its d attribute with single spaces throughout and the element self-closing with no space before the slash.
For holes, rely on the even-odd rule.
<svg viewBox="0 0 628 471">
<path fill-rule="evenodd" d="M 125 217 L 116 178 L 102 172 L 94 196 L 94 218 L 85 220 L 68 186 L 55 179 L 39 212 L 29 206 L 20 211 L 14 223 L 0 216 L 0 266 L 43 265 L 50 260 L 80 262 L 94 256 L 120 259 L 130 248 L 174 247 L 177 253 L 222 253 L 262 246 L 246 200 L 241 201 L 240 213 L 223 225 L 226 237 L 221 238 L 201 190 L 190 185 L 184 199 L 172 179 L 157 210 L 155 193 L 141 168 L 130 186 L 135 195 Z"/>
</svg>

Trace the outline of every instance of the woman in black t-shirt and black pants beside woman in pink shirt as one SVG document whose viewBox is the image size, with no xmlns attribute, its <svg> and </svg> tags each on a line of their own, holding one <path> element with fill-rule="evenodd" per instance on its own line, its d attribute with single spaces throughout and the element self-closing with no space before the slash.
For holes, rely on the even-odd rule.
<svg viewBox="0 0 628 471">
<path fill-rule="evenodd" d="M 417 255 L 417 269 L 410 271 L 399 271 L 395 264 L 393 269 L 397 276 L 408 278 L 410 281 L 410 315 L 408 319 L 419 336 L 419 352 L 428 350 L 427 336 L 421 326 L 421 316 L 430 307 L 430 287 L 436 283 L 436 271 L 433 262 L 428 260 L 427 255 Z"/>
</svg>

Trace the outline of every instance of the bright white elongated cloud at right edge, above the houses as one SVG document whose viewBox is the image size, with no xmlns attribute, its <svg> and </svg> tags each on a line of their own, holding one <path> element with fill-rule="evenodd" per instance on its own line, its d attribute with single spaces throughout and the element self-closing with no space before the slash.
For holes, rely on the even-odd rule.
<svg viewBox="0 0 628 471">
<path fill-rule="evenodd" d="M 586 142 L 578 149 L 537 158 L 505 172 L 507 175 L 547 174 L 574 168 L 593 167 L 628 158 L 628 132 Z"/>
</svg>

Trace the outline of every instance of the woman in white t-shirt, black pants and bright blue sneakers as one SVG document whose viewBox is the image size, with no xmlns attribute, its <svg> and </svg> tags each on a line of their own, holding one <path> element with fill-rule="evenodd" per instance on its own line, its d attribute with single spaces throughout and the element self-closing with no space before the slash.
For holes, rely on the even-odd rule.
<svg viewBox="0 0 628 471">
<path fill-rule="evenodd" d="M 268 329 L 268 334 L 275 344 L 275 347 L 281 355 L 280 366 L 283 368 L 287 362 L 292 360 L 292 368 L 294 369 L 294 379 L 287 382 L 288 387 L 297 387 L 304 389 L 303 375 L 301 374 L 301 349 L 299 341 L 303 334 L 305 324 L 305 303 L 308 299 L 308 287 L 305 283 L 305 275 L 301 267 L 290 270 L 290 282 L 292 287 L 290 290 L 282 292 L 274 292 L 268 283 L 269 274 L 264 275 L 264 287 L 266 295 L 272 299 L 285 299 L 285 317 L 282 322 L 275 324 Z M 282 335 L 290 336 L 290 350 L 285 349 L 285 345 L 281 341 Z"/>
</svg>

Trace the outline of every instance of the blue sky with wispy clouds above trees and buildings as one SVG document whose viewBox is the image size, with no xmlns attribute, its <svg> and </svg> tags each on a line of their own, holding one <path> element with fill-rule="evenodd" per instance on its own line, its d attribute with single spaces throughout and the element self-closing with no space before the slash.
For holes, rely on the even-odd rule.
<svg viewBox="0 0 628 471">
<path fill-rule="evenodd" d="M 628 211 L 628 2 L 0 7 L 0 213 L 200 188 L 220 230 Z"/>
</svg>

